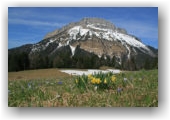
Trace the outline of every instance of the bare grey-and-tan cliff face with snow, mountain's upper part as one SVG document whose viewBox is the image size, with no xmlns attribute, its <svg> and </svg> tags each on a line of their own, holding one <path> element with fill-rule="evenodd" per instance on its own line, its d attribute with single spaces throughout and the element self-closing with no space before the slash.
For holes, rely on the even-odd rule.
<svg viewBox="0 0 170 120">
<path fill-rule="evenodd" d="M 155 56 L 137 37 L 128 35 L 126 30 L 116 28 L 112 23 L 98 18 L 84 18 L 80 22 L 71 23 L 60 30 L 48 33 L 45 40 L 33 46 L 32 52 L 44 50 L 51 43 L 58 44 L 56 49 L 69 45 L 72 52 L 79 45 L 80 48 L 99 57 L 102 55 L 120 57 L 124 53 L 130 58 L 131 55 L 138 54 L 136 49 Z"/>
</svg>

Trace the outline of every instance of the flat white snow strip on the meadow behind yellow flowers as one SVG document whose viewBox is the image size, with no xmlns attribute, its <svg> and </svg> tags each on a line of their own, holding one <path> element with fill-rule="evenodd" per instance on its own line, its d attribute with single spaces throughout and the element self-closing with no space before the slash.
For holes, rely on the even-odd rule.
<svg viewBox="0 0 170 120">
<path fill-rule="evenodd" d="M 107 70 L 97 70 L 97 69 L 88 69 L 86 71 L 83 70 L 60 70 L 61 72 L 70 74 L 70 75 L 89 75 L 89 74 L 95 74 L 95 73 L 108 73 L 108 72 L 112 72 L 114 74 L 120 73 L 120 70 L 117 69 L 107 69 Z"/>
</svg>

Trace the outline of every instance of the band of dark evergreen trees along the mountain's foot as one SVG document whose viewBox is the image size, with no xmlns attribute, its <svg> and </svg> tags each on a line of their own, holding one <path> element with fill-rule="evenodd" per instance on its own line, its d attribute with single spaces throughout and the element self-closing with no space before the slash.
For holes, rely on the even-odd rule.
<svg viewBox="0 0 170 120">
<path fill-rule="evenodd" d="M 98 69 L 100 66 L 110 66 L 122 70 L 139 70 L 158 68 L 158 58 L 146 58 L 143 64 L 137 63 L 135 57 L 127 60 L 122 59 L 121 64 L 117 62 L 117 58 L 109 56 L 101 56 L 84 51 L 75 52 L 71 56 L 70 51 L 64 51 L 55 56 L 33 54 L 29 56 L 26 52 L 13 53 L 8 55 L 8 71 L 22 71 L 29 69 L 44 68 L 80 68 L 80 69 Z"/>
</svg>

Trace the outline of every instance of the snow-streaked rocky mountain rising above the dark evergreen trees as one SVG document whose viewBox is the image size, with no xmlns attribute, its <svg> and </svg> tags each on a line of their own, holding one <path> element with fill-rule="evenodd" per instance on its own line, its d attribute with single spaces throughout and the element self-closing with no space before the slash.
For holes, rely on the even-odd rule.
<svg viewBox="0 0 170 120">
<path fill-rule="evenodd" d="M 48 33 L 44 40 L 30 45 L 28 53 L 30 60 L 33 61 L 37 54 L 59 60 L 61 51 L 67 51 L 70 59 L 76 58 L 80 51 L 83 51 L 85 56 L 88 53 L 88 56 L 90 54 L 97 56 L 96 60 L 99 61 L 102 58 L 107 61 L 109 59 L 110 64 L 114 61 L 117 66 L 127 64 L 133 59 L 133 62 L 135 60 L 135 64 L 137 64 L 135 67 L 141 68 L 144 66 L 144 60 L 142 61 L 141 58 L 157 57 L 157 53 L 153 49 L 143 44 L 139 38 L 128 34 L 125 29 L 118 28 L 109 21 L 99 18 L 84 18 Z M 56 56 L 60 57 L 56 58 Z M 111 61 L 112 59 L 114 60 Z M 70 64 L 77 63 L 71 61 Z"/>
</svg>

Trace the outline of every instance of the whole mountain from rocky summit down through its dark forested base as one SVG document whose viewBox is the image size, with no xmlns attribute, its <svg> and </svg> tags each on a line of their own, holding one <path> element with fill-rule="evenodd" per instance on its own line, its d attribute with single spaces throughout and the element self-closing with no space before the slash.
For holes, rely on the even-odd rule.
<svg viewBox="0 0 170 120">
<path fill-rule="evenodd" d="M 23 53 L 29 61 L 27 69 L 99 68 L 107 65 L 138 70 L 157 67 L 158 61 L 157 49 L 143 44 L 125 29 L 99 18 L 84 18 L 48 33 L 36 44 L 9 49 L 9 70 L 16 70 L 11 67 L 15 63 L 13 59 L 18 54 L 23 56 Z M 18 61 L 20 59 L 23 58 L 19 57 Z M 16 63 L 19 64 L 17 60 Z M 26 69 L 23 64 L 20 66 Z"/>
</svg>

